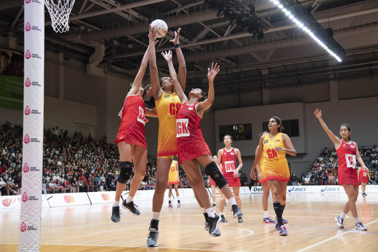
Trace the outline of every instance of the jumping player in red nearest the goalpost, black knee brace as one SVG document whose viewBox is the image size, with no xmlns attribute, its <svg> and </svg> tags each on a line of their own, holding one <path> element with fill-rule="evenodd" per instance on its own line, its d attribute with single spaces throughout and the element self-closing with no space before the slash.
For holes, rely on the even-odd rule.
<svg viewBox="0 0 378 252">
<path fill-rule="evenodd" d="M 142 80 L 146 71 L 149 58 L 149 47 L 143 56 L 141 66 L 135 76 L 134 82 L 130 85 L 129 91 L 125 97 L 121 116 L 121 125 L 115 143 L 118 144 L 119 156 L 121 159 L 121 170 L 119 172 L 116 185 L 115 201 L 112 209 L 112 221 L 121 221 L 119 215 L 119 199 L 133 172 L 132 164 L 134 162 L 135 176 L 130 183 L 130 191 L 127 198 L 122 202 L 122 207 L 128 209 L 133 215 L 139 215 L 139 209 L 133 202 L 133 197 L 138 190 L 144 175 L 146 174 L 147 164 L 147 144 L 144 125 L 148 120 L 145 116 L 157 117 L 157 114 L 150 109 L 146 109 L 142 94 Z M 150 90 L 147 95 L 151 96 Z"/>
</svg>

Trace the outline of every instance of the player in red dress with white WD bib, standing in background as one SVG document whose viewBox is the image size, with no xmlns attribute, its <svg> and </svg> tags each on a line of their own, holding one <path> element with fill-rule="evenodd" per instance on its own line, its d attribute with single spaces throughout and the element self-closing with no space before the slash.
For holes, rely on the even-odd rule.
<svg viewBox="0 0 378 252">
<path fill-rule="evenodd" d="M 240 156 L 240 150 L 232 146 L 232 136 L 225 135 L 223 136 L 223 143 L 225 148 L 218 150 L 218 165 L 222 163 L 222 173 L 225 176 L 225 179 L 228 182 L 228 186 L 232 186 L 234 191 L 234 197 L 237 205 L 242 209 L 242 201 L 240 200 L 239 189 L 240 179 L 239 179 L 239 170 L 243 167 L 242 157 Z M 238 167 L 236 167 L 236 159 L 239 162 Z M 225 209 L 226 197 L 222 197 L 220 200 L 219 206 L 219 215 L 222 218 L 222 222 L 227 222 L 223 215 L 223 210 Z M 242 216 L 238 217 L 238 222 L 243 222 Z"/>
</svg>

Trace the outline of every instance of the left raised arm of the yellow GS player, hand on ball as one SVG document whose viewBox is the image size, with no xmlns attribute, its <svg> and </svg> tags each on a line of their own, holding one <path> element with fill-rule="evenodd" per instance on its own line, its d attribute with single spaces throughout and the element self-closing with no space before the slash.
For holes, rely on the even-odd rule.
<svg viewBox="0 0 378 252">
<path fill-rule="evenodd" d="M 159 75 L 158 75 L 158 67 L 156 66 L 156 55 L 155 55 L 155 31 L 150 24 L 150 31 L 148 34 L 148 38 L 150 40 L 149 48 L 150 48 L 150 59 L 149 59 L 149 66 L 150 66 L 150 78 L 151 78 L 151 88 L 153 97 L 155 100 L 158 100 L 160 96 L 163 94 L 163 89 L 161 89 L 159 84 Z"/>
</svg>

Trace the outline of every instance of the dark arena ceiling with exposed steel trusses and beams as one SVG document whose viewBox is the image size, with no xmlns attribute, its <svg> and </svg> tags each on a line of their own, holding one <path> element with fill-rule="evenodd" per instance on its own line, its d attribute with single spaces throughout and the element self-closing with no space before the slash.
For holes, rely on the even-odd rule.
<svg viewBox="0 0 378 252">
<path fill-rule="evenodd" d="M 356 52 L 374 51 L 375 39 L 369 43 L 358 39 L 350 42 L 348 38 L 369 34 L 372 28 L 376 31 L 377 0 L 299 2 L 324 28 L 332 28 L 334 39 L 346 52 L 340 66 L 355 63 L 356 60 L 350 58 Z M 235 83 L 235 79 L 242 79 L 244 83 L 256 79 L 260 88 L 264 69 L 274 76 L 274 71 L 288 72 L 290 63 L 295 65 L 296 73 L 301 70 L 297 63 L 306 60 L 312 62 L 310 68 L 328 69 L 329 64 L 332 65 L 329 63 L 332 57 L 270 0 L 240 0 L 239 3 L 249 11 L 253 11 L 253 4 L 253 14 L 267 27 L 263 39 L 230 22 L 229 17 L 206 5 L 204 0 L 76 0 L 70 30 L 64 34 L 53 31 L 46 10 L 45 49 L 88 62 L 95 46 L 104 44 L 105 55 L 99 66 L 130 79 L 148 44 L 148 24 L 158 18 L 167 22 L 169 31 L 156 45 L 157 52 L 173 48 L 169 39 L 181 27 L 180 44 L 186 59 L 189 87 L 191 79 L 202 83 L 212 61 L 226 70 L 222 77 L 224 85 L 242 86 L 243 83 Z M 22 0 L 0 1 L 0 35 L 17 37 L 20 46 L 23 43 L 22 5 Z M 168 73 L 166 62 L 157 55 L 161 73 Z M 279 70 L 272 70 L 274 66 Z"/>
</svg>

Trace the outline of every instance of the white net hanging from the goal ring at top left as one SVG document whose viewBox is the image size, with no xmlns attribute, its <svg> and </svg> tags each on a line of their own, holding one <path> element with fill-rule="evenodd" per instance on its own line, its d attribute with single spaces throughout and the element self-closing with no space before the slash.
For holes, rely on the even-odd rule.
<svg viewBox="0 0 378 252">
<path fill-rule="evenodd" d="M 75 0 L 44 0 L 51 17 L 51 26 L 55 32 L 66 32 L 70 29 L 68 18 Z"/>
</svg>

